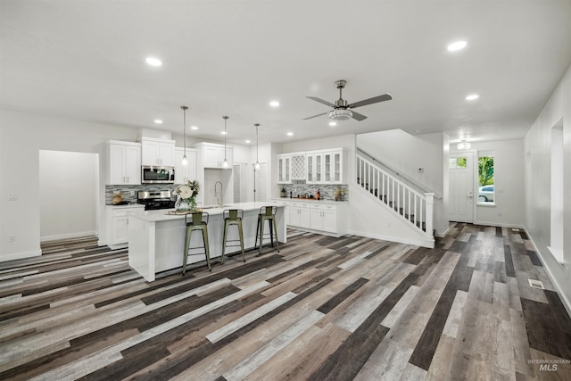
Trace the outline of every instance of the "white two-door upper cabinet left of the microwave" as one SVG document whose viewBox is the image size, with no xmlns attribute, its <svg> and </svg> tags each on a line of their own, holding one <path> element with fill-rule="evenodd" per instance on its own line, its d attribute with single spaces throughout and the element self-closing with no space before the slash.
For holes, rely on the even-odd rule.
<svg viewBox="0 0 571 381">
<path fill-rule="evenodd" d="M 107 143 L 108 185 L 141 184 L 141 145 L 110 140 Z"/>
</svg>

